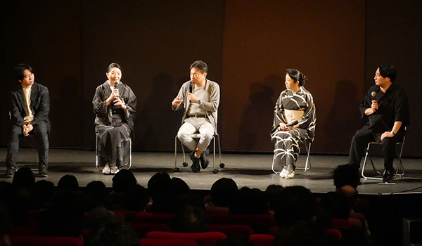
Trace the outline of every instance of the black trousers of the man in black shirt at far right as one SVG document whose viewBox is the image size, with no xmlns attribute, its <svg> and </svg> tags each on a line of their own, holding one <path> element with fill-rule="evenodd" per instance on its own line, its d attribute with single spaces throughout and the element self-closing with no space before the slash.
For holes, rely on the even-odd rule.
<svg viewBox="0 0 422 246">
<path fill-rule="evenodd" d="M 395 145 L 402 139 L 403 136 L 396 134 L 392 138 L 384 138 L 383 141 L 381 141 L 381 150 L 383 151 L 385 169 L 393 169 L 392 162 L 394 161 L 396 154 Z M 375 141 L 375 138 L 373 138 L 371 130 L 361 129 L 357 131 L 352 138 L 352 143 L 350 144 L 349 164 L 359 168 L 368 143 L 373 141 Z"/>
</svg>

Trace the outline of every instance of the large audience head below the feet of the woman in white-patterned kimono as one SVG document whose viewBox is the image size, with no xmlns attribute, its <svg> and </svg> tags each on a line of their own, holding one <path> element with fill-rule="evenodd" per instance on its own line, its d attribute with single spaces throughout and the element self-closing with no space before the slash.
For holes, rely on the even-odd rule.
<svg viewBox="0 0 422 246">
<path fill-rule="evenodd" d="M 315 209 L 316 201 L 310 190 L 303 186 L 288 186 L 277 198 L 274 219 L 281 226 L 313 221 Z"/>
</svg>

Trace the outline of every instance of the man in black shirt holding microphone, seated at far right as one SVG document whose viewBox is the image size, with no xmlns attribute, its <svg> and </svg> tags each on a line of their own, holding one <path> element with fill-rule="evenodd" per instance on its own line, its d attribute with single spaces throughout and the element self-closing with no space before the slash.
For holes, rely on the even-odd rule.
<svg viewBox="0 0 422 246">
<path fill-rule="evenodd" d="M 396 70 L 392 65 L 381 64 L 375 73 L 375 86 L 366 93 L 360 105 L 362 119 L 368 122 L 356 132 L 350 145 L 349 164 L 359 169 L 366 145 L 381 142 L 384 155 L 383 182 L 394 177 L 392 162 L 395 144 L 402 141 L 404 127 L 410 124 L 407 95 L 395 82 Z"/>
</svg>

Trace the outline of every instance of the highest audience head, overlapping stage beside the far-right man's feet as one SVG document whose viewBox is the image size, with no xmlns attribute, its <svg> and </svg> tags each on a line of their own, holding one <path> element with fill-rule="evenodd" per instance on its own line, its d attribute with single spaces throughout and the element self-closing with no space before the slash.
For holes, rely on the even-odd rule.
<svg viewBox="0 0 422 246">
<path fill-rule="evenodd" d="M 360 183 L 359 169 L 351 164 L 338 165 L 333 171 L 333 181 L 335 188 L 349 185 L 356 189 Z"/>
</svg>

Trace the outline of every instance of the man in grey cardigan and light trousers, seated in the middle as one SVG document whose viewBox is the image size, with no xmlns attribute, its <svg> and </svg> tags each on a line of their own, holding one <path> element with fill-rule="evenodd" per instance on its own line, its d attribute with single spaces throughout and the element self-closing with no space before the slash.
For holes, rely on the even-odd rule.
<svg viewBox="0 0 422 246">
<path fill-rule="evenodd" d="M 200 167 L 205 169 L 210 163 L 207 149 L 212 135 L 217 132 L 217 109 L 219 105 L 219 85 L 207 77 L 207 64 L 197 60 L 191 65 L 191 80 L 185 82 L 172 101 L 173 110 L 184 108 L 182 125 L 177 133 L 186 147 L 192 150 L 191 169 L 199 172 Z M 182 104 L 183 103 L 183 104 Z M 198 143 L 191 138 L 191 134 L 199 132 Z M 200 166 L 199 166 L 200 163 Z"/>
</svg>

